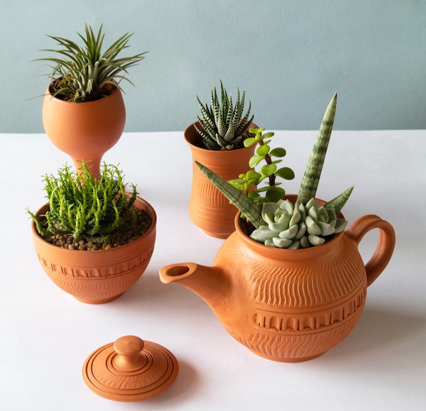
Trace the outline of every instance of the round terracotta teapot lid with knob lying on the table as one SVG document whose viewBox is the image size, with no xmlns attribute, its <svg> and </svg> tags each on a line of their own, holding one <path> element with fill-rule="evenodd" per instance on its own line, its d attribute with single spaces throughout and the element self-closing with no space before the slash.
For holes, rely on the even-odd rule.
<svg viewBox="0 0 426 411">
<path fill-rule="evenodd" d="M 175 356 L 163 346 L 137 336 L 122 336 L 87 357 L 83 379 L 97 395 L 139 401 L 163 393 L 178 376 Z"/>
</svg>

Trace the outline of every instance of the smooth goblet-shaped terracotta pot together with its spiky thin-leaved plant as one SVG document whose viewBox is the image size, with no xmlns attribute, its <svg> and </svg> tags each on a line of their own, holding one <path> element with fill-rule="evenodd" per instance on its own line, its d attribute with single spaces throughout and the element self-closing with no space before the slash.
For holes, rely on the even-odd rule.
<svg viewBox="0 0 426 411">
<path fill-rule="evenodd" d="M 50 62 L 53 69 L 43 101 L 43 126 L 53 144 L 71 156 L 76 170 L 84 160 L 92 174 L 99 175 L 102 155 L 124 130 L 120 82 L 130 82 L 129 68 L 146 53 L 121 57 L 132 34 L 122 35 L 104 50 L 102 26 L 95 34 L 86 24 L 84 31 L 77 33 L 82 45 L 49 36 L 59 48 L 43 50 L 54 53 L 53 57 L 38 59 Z"/>
</svg>

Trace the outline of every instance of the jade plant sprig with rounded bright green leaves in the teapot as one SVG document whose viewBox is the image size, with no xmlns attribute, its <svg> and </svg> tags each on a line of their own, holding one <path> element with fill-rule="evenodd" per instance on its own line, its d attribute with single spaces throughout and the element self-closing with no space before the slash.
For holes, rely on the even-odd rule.
<svg viewBox="0 0 426 411">
<path fill-rule="evenodd" d="M 277 177 L 292 180 L 295 173 L 288 167 L 278 168 L 286 151 L 282 147 L 271 149 L 270 143 L 274 133 L 273 131 L 263 133 L 263 131 L 265 128 L 249 128 L 251 137 L 244 140 L 244 146 L 257 145 L 254 155 L 249 160 L 250 170 L 228 182 L 254 202 L 275 202 L 285 195 L 283 187 L 279 187 L 281 182 L 277 181 Z M 256 171 L 258 165 L 261 165 L 261 168 Z M 268 184 L 261 186 L 265 181 Z"/>
</svg>

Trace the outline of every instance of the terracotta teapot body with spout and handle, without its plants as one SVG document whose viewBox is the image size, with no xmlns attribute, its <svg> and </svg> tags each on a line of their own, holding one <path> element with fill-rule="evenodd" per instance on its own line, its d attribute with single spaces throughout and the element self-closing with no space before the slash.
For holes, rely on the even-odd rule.
<svg viewBox="0 0 426 411">
<path fill-rule="evenodd" d="M 395 246 L 393 227 L 375 215 L 301 250 L 251 240 L 239 214 L 235 224 L 212 267 L 168 265 L 160 269 L 160 280 L 196 292 L 231 336 L 275 361 L 309 360 L 339 344 L 358 322 L 367 286 L 386 267 Z M 371 229 L 379 229 L 379 239 L 364 265 L 358 244 Z"/>
</svg>

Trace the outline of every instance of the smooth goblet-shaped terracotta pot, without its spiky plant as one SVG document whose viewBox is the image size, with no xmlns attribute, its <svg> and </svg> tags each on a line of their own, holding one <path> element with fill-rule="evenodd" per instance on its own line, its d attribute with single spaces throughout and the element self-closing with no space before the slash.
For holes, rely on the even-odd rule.
<svg viewBox="0 0 426 411">
<path fill-rule="evenodd" d="M 50 141 L 70 155 L 75 169 L 81 160 L 100 174 L 102 156 L 119 141 L 126 122 L 126 109 L 118 87 L 108 97 L 94 102 L 65 102 L 46 90 L 43 126 Z"/>
</svg>

